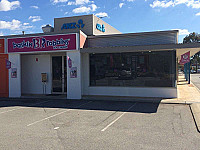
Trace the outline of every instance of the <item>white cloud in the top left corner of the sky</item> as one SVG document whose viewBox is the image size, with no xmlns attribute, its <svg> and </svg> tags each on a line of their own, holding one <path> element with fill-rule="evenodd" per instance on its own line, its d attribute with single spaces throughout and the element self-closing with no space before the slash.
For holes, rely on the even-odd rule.
<svg viewBox="0 0 200 150">
<path fill-rule="evenodd" d="M 20 7 L 19 1 L 9 2 L 8 0 L 1 0 L 0 2 L 0 11 L 14 10 L 18 7 Z"/>
</svg>

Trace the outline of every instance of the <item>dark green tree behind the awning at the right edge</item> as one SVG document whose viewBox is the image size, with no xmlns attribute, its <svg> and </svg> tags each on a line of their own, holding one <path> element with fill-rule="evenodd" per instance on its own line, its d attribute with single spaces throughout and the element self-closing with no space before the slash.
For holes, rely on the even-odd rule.
<svg viewBox="0 0 200 150">
<path fill-rule="evenodd" d="M 190 33 L 183 39 L 183 43 L 200 43 L 200 34 L 195 32 Z M 200 52 L 196 53 L 191 59 L 192 64 L 196 63 L 196 72 L 198 69 L 198 63 L 200 62 L 199 55 Z"/>
</svg>

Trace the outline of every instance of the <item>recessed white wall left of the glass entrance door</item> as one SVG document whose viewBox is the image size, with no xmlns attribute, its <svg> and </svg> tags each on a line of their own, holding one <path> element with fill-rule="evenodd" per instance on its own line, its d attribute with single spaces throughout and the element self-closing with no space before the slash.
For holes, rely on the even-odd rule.
<svg viewBox="0 0 200 150">
<path fill-rule="evenodd" d="M 36 61 L 38 58 L 38 61 Z M 22 55 L 22 94 L 43 94 L 41 73 L 47 73 L 46 94 L 51 94 L 50 55 Z"/>
</svg>

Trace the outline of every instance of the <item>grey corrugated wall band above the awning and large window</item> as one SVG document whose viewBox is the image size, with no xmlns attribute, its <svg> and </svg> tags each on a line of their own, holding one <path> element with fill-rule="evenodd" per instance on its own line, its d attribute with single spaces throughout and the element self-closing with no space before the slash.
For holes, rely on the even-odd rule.
<svg viewBox="0 0 200 150">
<path fill-rule="evenodd" d="M 112 36 L 94 36 L 87 39 L 88 47 L 139 46 L 176 44 L 176 31 L 129 33 Z"/>
</svg>

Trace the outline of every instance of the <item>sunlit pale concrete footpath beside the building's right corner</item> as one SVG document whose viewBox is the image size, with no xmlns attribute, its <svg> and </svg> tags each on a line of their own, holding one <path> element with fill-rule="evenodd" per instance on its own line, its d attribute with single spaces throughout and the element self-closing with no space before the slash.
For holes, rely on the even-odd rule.
<svg viewBox="0 0 200 150">
<path fill-rule="evenodd" d="M 200 90 L 193 84 L 188 84 L 184 75 L 179 75 L 177 84 L 178 97 L 162 99 L 161 103 L 189 104 L 197 130 L 200 132 Z"/>
</svg>

